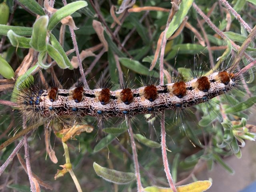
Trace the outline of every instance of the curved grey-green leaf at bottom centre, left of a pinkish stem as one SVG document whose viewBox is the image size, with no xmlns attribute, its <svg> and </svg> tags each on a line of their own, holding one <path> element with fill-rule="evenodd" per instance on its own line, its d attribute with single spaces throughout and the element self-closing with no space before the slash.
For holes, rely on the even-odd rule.
<svg viewBox="0 0 256 192">
<path fill-rule="evenodd" d="M 108 169 L 100 166 L 96 162 L 93 163 L 93 168 L 96 174 L 103 179 L 116 183 L 116 184 L 127 184 L 136 179 L 134 173 L 120 172 L 113 169 Z"/>
</svg>

